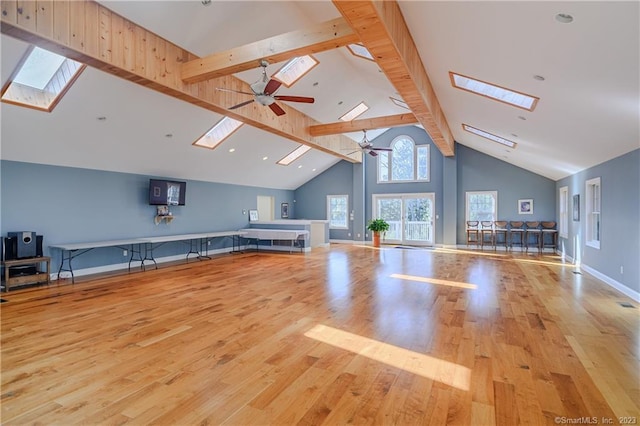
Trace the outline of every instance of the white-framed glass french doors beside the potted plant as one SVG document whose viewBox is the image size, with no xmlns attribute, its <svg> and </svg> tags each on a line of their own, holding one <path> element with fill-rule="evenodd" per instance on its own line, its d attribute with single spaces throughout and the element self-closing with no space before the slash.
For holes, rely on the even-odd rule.
<svg viewBox="0 0 640 426">
<path fill-rule="evenodd" d="M 373 216 L 389 223 L 387 244 L 433 245 L 435 195 L 374 194 Z"/>
</svg>

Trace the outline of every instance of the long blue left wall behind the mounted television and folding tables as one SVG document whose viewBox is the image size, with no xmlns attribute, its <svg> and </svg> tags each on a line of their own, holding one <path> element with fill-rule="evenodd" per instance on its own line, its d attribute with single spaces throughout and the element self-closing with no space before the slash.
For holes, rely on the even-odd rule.
<svg viewBox="0 0 640 426">
<path fill-rule="evenodd" d="M 255 209 L 258 195 L 274 197 L 276 206 L 289 203 L 290 213 L 295 214 L 293 191 L 187 181 L 186 205 L 171 207 L 175 218 L 170 224 L 155 225 L 156 207 L 148 205 L 149 179 L 182 179 L 6 160 L 0 162 L 0 168 L 2 236 L 12 231 L 43 235 L 45 255 L 53 257 L 52 270 L 59 266 L 60 253 L 51 253 L 50 244 L 244 228 L 248 215 L 243 210 Z M 279 214 L 278 211 L 275 216 Z M 210 248 L 230 244 L 226 239 L 217 239 Z M 175 242 L 154 250 L 154 255 L 160 258 L 187 251 L 185 243 Z M 74 260 L 74 268 L 126 260 L 121 250 L 99 249 Z"/>
</svg>

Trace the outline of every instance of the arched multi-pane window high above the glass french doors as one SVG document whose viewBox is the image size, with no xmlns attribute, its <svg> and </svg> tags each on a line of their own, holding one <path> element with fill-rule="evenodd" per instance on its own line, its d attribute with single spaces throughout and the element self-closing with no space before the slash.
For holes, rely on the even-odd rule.
<svg viewBox="0 0 640 426">
<path fill-rule="evenodd" d="M 378 151 L 378 183 L 428 182 L 429 145 L 416 145 L 401 135 L 391 142 L 393 151 Z"/>
</svg>

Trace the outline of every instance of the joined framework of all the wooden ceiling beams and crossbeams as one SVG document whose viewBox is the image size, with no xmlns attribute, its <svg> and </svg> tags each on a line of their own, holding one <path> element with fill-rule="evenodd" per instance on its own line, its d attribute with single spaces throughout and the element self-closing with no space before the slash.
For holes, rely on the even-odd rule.
<svg viewBox="0 0 640 426">
<path fill-rule="evenodd" d="M 357 144 L 342 133 L 420 123 L 446 156 L 453 136 L 395 1 L 334 1 L 343 18 L 218 52 L 204 58 L 180 48 L 92 0 L 3 1 L 3 34 L 41 46 L 131 82 L 240 120 L 350 162 L 362 161 Z M 411 108 L 412 113 L 322 124 L 288 106 L 228 110 L 250 91 L 233 73 L 260 60 L 296 56 L 361 42 Z M 345 152 L 354 151 L 350 154 Z"/>
</svg>

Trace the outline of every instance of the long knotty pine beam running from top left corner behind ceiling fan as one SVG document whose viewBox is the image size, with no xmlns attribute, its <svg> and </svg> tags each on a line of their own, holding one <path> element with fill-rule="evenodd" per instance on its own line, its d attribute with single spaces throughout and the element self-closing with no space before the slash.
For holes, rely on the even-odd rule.
<svg viewBox="0 0 640 426">
<path fill-rule="evenodd" d="M 358 148 L 346 136 L 311 137 L 307 129 L 320 123 L 285 103 L 280 104 L 286 112 L 281 117 L 256 103 L 229 111 L 238 97 L 216 87 L 250 91 L 247 83 L 230 75 L 183 82 L 182 64 L 197 56 L 92 0 L 3 0 L 0 8 L 3 34 L 338 158 L 362 161 L 361 152 L 345 155 Z"/>
</svg>

